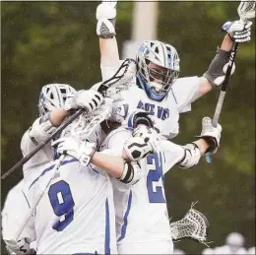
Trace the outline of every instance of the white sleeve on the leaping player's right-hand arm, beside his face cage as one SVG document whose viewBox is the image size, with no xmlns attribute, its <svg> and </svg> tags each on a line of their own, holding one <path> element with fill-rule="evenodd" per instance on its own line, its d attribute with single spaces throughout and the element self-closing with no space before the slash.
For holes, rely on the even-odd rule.
<svg viewBox="0 0 256 255">
<path fill-rule="evenodd" d="M 179 113 L 190 111 L 191 102 L 197 99 L 200 78 L 197 76 L 179 78 L 171 87 Z M 171 92 L 170 92 L 171 93 Z"/>
</svg>

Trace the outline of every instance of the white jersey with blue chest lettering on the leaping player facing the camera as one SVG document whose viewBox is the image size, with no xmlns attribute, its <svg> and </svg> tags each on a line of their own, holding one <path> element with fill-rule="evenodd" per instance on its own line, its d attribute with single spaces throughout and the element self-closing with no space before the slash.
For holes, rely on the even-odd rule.
<svg viewBox="0 0 256 255">
<path fill-rule="evenodd" d="M 109 79 L 118 68 L 101 66 L 102 80 Z M 191 102 L 197 98 L 200 79 L 187 77 L 177 79 L 168 95 L 162 101 L 155 101 L 136 85 L 136 78 L 128 91 L 121 96 L 129 104 L 129 113 L 144 109 L 150 113 L 155 129 L 166 138 L 179 133 L 179 113 L 190 111 Z"/>
</svg>

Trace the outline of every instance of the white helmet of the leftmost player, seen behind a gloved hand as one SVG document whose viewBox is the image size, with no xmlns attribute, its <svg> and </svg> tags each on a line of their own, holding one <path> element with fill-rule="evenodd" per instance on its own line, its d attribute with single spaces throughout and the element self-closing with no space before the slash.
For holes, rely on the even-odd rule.
<svg viewBox="0 0 256 255">
<path fill-rule="evenodd" d="M 47 84 L 42 87 L 38 108 L 40 116 L 48 111 L 63 107 L 67 96 L 74 96 L 76 90 L 67 84 Z"/>
</svg>

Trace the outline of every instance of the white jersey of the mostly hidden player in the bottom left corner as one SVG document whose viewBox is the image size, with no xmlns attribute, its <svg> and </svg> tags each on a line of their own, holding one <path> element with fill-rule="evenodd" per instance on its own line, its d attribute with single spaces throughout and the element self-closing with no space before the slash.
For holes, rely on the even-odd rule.
<svg viewBox="0 0 256 255">
<path fill-rule="evenodd" d="M 15 240 L 19 227 L 24 223 L 30 204 L 27 200 L 24 188 L 24 180 L 21 180 L 8 193 L 2 210 L 2 235 L 4 240 Z M 27 224 L 20 239 L 26 238 L 28 242 L 35 240 L 35 232 L 31 224 Z M 34 246 L 33 246 L 34 247 Z"/>
</svg>

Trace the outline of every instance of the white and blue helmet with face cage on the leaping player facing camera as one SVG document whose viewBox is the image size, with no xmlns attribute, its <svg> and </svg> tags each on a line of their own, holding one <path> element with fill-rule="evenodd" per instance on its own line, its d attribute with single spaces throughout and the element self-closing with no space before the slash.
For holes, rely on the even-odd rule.
<svg viewBox="0 0 256 255">
<path fill-rule="evenodd" d="M 139 86 L 150 98 L 161 101 L 179 75 L 176 49 L 160 40 L 146 40 L 139 48 L 136 60 Z"/>
</svg>

